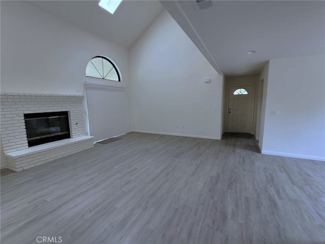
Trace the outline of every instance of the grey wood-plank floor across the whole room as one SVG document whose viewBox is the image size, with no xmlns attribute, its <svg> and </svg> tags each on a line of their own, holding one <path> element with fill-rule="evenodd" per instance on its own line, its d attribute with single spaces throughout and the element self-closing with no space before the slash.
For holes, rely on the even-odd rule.
<svg viewBox="0 0 325 244">
<path fill-rule="evenodd" d="M 1 243 L 325 243 L 325 163 L 129 133 L 1 178 Z"/>
</svg>

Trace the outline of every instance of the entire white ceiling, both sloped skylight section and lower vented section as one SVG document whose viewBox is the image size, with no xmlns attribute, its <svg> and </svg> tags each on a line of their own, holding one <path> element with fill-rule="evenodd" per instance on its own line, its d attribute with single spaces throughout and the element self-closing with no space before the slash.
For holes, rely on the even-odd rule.
<svg viewBox="0 0 325 244">
<path fill-rule="evenodd" d="M 99 1 L 28 1 L 129 48 L 164 7 L 220 74 L 258 74 L 267 60 L 325 52 L 324 1 L 122 1 L 114 15 Z M 163 7 L 164 6 L 164 7 Z M 250 50 L 256 53 L 247 54 Z"/>
</svg>

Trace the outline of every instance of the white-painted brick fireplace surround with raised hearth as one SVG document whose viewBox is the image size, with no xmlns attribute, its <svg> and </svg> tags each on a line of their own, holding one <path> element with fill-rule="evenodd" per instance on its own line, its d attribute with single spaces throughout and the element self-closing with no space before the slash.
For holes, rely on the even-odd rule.
<svg viewBox="0 0 325 244">
<path fill-rule="evenodd" d="M 1 143 L 6 166 L 25 170 L 93 147 L 86 136 L 82 95 L 1 93 Z M 28 147 L 24 114 L 68 111 L 70 139 Z"/>
</svg>

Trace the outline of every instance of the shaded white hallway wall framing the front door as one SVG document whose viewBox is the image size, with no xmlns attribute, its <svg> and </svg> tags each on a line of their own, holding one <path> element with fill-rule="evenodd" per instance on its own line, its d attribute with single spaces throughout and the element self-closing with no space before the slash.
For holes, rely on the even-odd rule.
<svg viewBox="0 0 325 244">
<path fill-rule="evenodd" d="M 230 76 L 225 78 L 224 82 L 224 106 L 223 106 L 223 130 L 227 131 L 227 117 L 228 117 L 228 97 L 229 97 L 229 85 L 254 85 L 255 88 L 255 97 L 254 97 L 254 114 L 253 114 L 253 132 L 258 140 L 259 131 L 256 133 L 256 124 L 259 121 L 256 121 L 257 110 L 258 110 L 258 75 L 245 75 L 245 76 Z"/>
</svg>

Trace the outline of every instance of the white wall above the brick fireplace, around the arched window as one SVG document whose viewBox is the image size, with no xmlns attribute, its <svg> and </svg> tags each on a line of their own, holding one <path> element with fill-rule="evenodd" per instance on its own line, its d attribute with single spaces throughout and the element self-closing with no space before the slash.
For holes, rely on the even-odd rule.
<svg viewBox="0 0 325 244">
<path fill-rule="evenodd" d="M 121 71 L 131 130 L 127 49 L 26 2 L 1 1 L 1 92 L 84 95 L 86 65 L 96 55 Z"/>
</svg>

